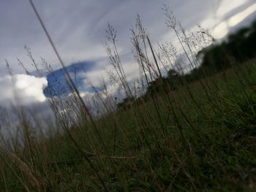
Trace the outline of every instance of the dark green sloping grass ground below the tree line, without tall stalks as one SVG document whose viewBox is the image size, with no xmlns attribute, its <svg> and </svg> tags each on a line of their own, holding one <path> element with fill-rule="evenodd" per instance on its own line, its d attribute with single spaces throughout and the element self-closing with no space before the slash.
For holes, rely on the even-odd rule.
<svg viewBox="0 0 256 192">
<path fill-rule="evenodd" d="M 1 150 L 1 190 L 255 191 L 255 66 L 158 93 L 94 125 L 84 118 L 50 138 L 29 133 L 24 147 Z"/>
</svg>

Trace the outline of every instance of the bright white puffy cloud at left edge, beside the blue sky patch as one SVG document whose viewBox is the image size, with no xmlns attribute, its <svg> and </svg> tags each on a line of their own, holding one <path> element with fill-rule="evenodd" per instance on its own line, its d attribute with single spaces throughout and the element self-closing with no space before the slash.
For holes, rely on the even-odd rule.
<svg viewBox="0 0 256 192">
<path fill-rule="evenodd" d="M 0 78 L 0 104 L 33 104 L 46 100 L 43 89 L 48 85 L 45 77 L 34 77 L 27 74 L 7 75 Z"/>
</svg>

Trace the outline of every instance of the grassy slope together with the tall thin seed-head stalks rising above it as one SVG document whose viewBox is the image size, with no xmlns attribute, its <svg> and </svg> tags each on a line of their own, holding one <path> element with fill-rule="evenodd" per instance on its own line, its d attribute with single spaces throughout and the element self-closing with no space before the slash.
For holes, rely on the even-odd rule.
<svg viewBox="0 0 256 192">
<path fill-rule="evenodd" d="M 187 34 L 170 9 L 163 10 L 189 64 L 176 62 L 170 43 L 159 45 L 156 53 L 138 16 L 131 29 L 141 71 L 136 95 L 118 55 L 116 31 L 108 25 L 106 46 L 114 69 L 110 78 L 127 99 L 116 110 L 116 96 L 107 86 L 95 89 L 91 103 L 99 108 L 94 116 L 76 91 L 52 97 L 56 123 L 33 114 L 31 120 L 23 108 L 16 109 L 23 140 L 3 138 L 2 190 L 256 190 L 255 55 L 243 53 L 238 60 L 237 54 L 222 53 L 231 64 L 223 67 L 214 54 L 236 42 L 231 41 L 208 50 L 200 65 L 198 47 L 211 44 L 211 36 L 202 29 L 197 37 Z M 42 125 L 48 125 L 48 134 L 35 131 Z"/>
</svg>

